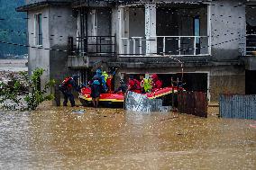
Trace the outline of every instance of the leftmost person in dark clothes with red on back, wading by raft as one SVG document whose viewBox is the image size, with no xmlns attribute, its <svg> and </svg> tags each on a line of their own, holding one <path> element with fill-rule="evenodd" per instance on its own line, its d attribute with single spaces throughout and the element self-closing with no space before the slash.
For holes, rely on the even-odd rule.
<svg viewBox="0 0 256 170">
<path fill-rule="evenodd" d="M 64 95 L 64 102 L 63 106 L 68 105 L 68 100 L 71 103 L 71 106 L 75 106 L 75 100 L 74 100 L 74 95 L 71 93 L 72 88 L 75 89 L 76 91 L 80 92 L 80 87 L 78 85 L 78 75 L 74 75 L 71 77 L 66 77 L 64 81 L 59 85 L 59 91 L 62 92 Z"/>
</svg>

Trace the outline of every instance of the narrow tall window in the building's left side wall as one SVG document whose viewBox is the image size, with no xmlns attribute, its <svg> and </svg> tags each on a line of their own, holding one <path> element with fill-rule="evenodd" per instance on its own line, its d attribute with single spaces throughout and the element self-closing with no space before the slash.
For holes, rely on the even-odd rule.
<svg viewBox="0 0 256 170">
<path fill-rule="evenodd" d="M 34 37 L 35 45 L 42 45 L 41 13 L 34 15 Z"/>
</svg>

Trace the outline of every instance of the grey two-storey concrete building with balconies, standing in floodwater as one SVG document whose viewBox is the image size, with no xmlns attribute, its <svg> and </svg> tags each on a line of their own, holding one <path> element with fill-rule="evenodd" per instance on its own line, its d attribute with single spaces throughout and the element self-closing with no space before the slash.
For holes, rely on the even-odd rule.
<svg viewBox="0 0 256 170">
<path fill-rule="evenodd" d="M 158 73 L 168 85 L 170 76 L 181 78 L 182 63 L 185 88 L 206 92 L 210 101 L 221 93 L 256 94 L 256 2 L 26 2 L 17 11 L 28 13 L 28 40 L 36 47 L 29 49 L 29 70 L 45 68 L 42 85 L 73 73 L 87 82 L 99 66 L 118 68 L 117 83 Z"/>
</svg>

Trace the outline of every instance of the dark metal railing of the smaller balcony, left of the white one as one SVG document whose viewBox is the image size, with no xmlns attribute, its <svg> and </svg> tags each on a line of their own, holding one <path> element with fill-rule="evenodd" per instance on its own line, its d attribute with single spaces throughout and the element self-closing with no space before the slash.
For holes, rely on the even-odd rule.
<svg viewBox="0 0 256 170">
<path fill-rule="evenodd" d="M 69 37 L 70 56 L 115 56 L 115 36 Z"/>
</svg>

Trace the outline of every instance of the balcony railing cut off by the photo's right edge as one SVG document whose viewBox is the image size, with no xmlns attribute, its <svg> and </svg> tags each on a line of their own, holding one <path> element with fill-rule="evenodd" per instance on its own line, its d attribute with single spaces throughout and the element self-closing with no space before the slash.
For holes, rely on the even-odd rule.
<svg viewBox="0 0 256 170">
<path fill-rule="evenodd" d="M 256 55 L 256 34 L 246 35 L 246 46 L 243 49 L 243 56 Z"/>
</svg>

